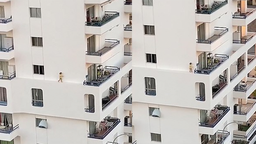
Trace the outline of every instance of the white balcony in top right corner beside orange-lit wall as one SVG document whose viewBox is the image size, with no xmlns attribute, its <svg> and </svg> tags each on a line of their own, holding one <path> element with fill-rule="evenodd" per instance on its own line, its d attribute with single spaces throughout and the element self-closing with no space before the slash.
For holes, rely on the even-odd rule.
<svg viewBox="0 0 256 144">
<path fill-rule="evenodd" d="M 239 8 L 241 11 L 241 8 Z M 247 8 L 246 13 L 240 13 L 240 12 L 235 12 L 232 14 L 233 20 L 233 26 L 247 26 L 250 24 L 253 20 L 256 19 L 256 9 L 248 9 Z"/>
</svg>

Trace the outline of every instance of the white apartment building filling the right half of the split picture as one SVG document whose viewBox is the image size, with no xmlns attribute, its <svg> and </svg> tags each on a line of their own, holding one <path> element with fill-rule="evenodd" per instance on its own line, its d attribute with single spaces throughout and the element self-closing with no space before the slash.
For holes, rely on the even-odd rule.
<svg viewBox="0 0 256 144">
<path fill-rule="evenodd" d="M 255 8 L 254 0 L 133 2 L 138 143 L 255 142 Z"/>
</svg>

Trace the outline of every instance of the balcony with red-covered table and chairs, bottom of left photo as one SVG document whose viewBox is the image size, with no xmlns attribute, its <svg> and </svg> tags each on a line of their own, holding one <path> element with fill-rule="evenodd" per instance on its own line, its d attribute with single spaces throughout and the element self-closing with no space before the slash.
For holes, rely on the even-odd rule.
<svg viewBox="0 0 256 144">
<path fill-rule="evenodd" d="M 88 134 L 88 138 L 104 139 L 115 127 L 120 123 L 120 119 L 116 117 L 105 117 L 100 122 L 94 134 Z"/>
</svg>

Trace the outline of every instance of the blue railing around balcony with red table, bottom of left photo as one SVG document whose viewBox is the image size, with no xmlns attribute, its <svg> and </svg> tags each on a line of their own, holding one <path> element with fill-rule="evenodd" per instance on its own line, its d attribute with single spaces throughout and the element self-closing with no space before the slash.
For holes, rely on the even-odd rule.
<svg viewBox="0 0 256 144">
<path fill-rule="evenodd" d="M 107 126 L 105 130 L 103 130 L 98 134 L 88 134 L 88 137 L 96 138 L 96 139 L 104 139 L 120 123 L 120 119 L 111 117 L 108 119 L 108 122 L 113 122 L 113 124 L 111 126 Z"/>
</svg>

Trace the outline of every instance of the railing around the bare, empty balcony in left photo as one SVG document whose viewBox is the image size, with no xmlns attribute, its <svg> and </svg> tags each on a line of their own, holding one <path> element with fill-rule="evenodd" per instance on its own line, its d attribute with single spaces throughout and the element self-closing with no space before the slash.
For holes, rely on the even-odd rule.
<svg viewBox="0 0 256 144">
<path fill-rule="evenodd" d="M 112 48 L 120 44 L 120 41 L 118 40 L 113 40 L 113 39 L 105 39 L 105 47 L 102 49 L 98 50 L 97 52 L 92 52 L 92 51 L 86 51 L 86 55 L 94 55 L 94 56 L 101 56 L 108 51 L 110 51 Z"/>
</svg>

